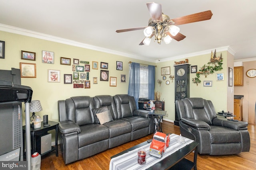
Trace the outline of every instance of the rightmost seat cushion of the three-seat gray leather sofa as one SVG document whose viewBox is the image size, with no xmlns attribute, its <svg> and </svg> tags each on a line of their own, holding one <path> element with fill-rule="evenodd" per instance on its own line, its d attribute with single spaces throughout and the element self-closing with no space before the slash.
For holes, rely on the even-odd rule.
<svg viewBox="0 0 256 170">
<path fill-rule="evenodd" d="M 149 127 L 149 124 L 150 124 L 150 119 L 146 117 L 131 116 L 131 117 L 122 118 L 122 120 L 125 120 L 131 123 L 132 131 Z"/>
</svg>

